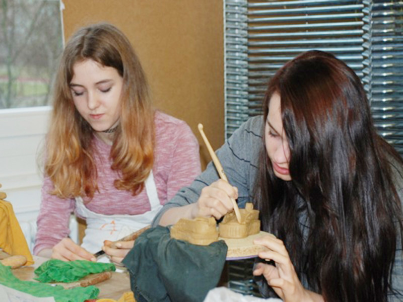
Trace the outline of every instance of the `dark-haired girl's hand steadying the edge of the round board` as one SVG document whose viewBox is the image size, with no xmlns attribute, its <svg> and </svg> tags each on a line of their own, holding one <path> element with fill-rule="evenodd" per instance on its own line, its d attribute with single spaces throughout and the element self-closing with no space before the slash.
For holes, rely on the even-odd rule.
<svg viewBox="0 0 403 302">
<path fill-rule="evenodd" d="M 313 301 L 310 291 L 306 290 L 295 272 L 290 256 L 282 240 L 274 236 L 265 236 L 254 240 L 254 244 L 262 245 L 268 250 L 260 252 L 258 256 L 266 261 L 273 260 L 271 264 L 258 263 L 253 275 L 263 275 L 281 299 L 287 302 Z"/>
</svg>

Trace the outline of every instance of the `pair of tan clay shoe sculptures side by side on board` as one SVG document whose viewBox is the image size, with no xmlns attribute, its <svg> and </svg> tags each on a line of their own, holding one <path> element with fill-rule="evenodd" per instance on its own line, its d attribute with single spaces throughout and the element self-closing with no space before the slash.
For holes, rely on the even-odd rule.
<svg viewBox="0 0 403 302">
<path fill-rule="evenodd" d="M 237 221 L 234 212 L 227 213 L 222 222 L 214 217 L 181 218 L 171 227 L 171 238 L 184 240 L 195 245 L 209 245 L 221 238 L 245 238 L 259 233 L 259 211 L 248 202 L 244 209 L 239 209 L 242 223 Z"/>
</svg>

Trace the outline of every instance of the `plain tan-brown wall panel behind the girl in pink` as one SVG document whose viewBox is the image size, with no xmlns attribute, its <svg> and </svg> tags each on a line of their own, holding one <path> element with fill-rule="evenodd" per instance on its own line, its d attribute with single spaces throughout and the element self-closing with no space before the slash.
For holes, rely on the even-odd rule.
<svg viewBox="0 0 403 302">
<path fill-rule="evenodd" d="M 223 3 L 219 0 L 63 0 L 65 38 L 101 21 L 120 28 L 147 73 L 154 104 L 185 120 L 199 140 L 202 168 L 224 142 Z"/>
</svg>

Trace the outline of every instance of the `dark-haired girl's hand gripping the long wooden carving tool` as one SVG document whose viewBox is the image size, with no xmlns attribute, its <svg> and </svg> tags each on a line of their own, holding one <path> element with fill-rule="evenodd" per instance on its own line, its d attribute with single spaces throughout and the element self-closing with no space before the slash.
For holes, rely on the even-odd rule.
<svg viewBox="0 0 403 302">
<path fill-rule="evenodd" d="M 220 219 L 234 206 L 231 198 L 238 198 L 238 189 L 225 180 L 219 179 L 201 190 L 200 197 L 193 208 L 193 217 L 215 217 Z"/>
</svg>

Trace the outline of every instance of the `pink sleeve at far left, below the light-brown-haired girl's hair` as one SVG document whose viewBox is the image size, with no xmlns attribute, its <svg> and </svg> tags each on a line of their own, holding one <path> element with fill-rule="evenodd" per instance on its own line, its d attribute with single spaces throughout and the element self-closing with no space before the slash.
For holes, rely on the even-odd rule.
<svg viewBox="0 0 403 302">
<path fill-rule="evenodd" d="M 52 188 L 52 181 L 45 178 L 41 190 L 41 206 L 36 220 L 35 255 L 45 248 L 52 248 L 70 234 L 69 222 L 75 208 L 75 201 L 51 195 L 49 192 Z"/>
</svg>

